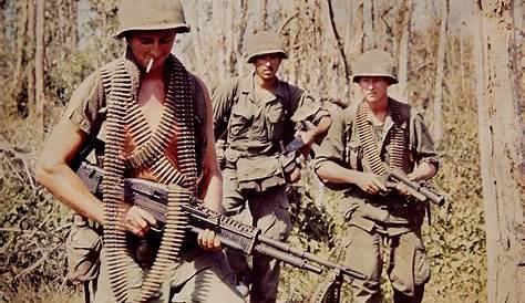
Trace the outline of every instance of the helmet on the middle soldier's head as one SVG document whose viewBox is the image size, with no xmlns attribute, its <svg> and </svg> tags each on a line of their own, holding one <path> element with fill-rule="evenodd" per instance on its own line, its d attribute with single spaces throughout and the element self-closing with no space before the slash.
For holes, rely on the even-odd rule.
<svg viewBox="0 0 525 303">
<path fill-rule="evenodd" d="M 246 62 L 251 63 L 258 55 L 277 53 L 288 59 L 282 39 L 275 32 L 258 31 L 246 39 Z"/>
</svg>

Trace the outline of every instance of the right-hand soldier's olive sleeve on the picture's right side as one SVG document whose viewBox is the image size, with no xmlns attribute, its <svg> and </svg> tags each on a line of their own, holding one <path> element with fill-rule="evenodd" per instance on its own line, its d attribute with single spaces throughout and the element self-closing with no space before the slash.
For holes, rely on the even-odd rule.
<svg viewBox="0 0 525 303">
<path fill-rule="evenodd" d="M 423 115 L 415 112 L 410 121 L 410 145 L 409 148 L 416 163 L 428 161 L 439 168 L 440 155 L 434 148 L 434 140 L 424 124 Z"/>
</svg>

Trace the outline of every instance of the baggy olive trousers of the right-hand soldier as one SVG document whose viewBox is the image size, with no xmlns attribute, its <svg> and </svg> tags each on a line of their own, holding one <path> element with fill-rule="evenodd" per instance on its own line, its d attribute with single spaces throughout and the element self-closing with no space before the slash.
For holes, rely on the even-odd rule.
<svg viewBox="0 0 525 303">
<path fill-rule="evenodd" d="M 387 273 L 394 291 L 394 302 L 421 302 L 430 267 L 421 229 L 388 236 L 375 229 L 347 228 L 346 265 L 367 275 L 352 282 L 354 302 L 381 302 L 382 245 L 389 252 Z"/>
</svg>

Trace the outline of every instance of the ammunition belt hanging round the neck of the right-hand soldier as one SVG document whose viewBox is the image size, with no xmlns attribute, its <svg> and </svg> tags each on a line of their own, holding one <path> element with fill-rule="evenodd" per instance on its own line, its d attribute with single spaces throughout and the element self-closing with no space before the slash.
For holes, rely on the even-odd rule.
<svg viewBox="0 0 525 303">
<path fill-rule="evenodd" d="M 390 154 L 390 167 L 403 169 L 405 153 L 405 132 L 400 124 L 402 121 L 402 107 L 394 102 L 389 102 L 389 111 L 394 122 L 392 127 L 391 140 L 392 146 Z M 372 126 L 367 121 L 367 107 L 364 103 L 360 103 L 357 109 L 356 124 L 358 128 L 359 140 L 363 146 L 364 156 L 367 157 L 372 173 L 384 175 L 390 170 L 389 165 L 381 160 L 378 139 L 373 135 Z"/>
</svg>

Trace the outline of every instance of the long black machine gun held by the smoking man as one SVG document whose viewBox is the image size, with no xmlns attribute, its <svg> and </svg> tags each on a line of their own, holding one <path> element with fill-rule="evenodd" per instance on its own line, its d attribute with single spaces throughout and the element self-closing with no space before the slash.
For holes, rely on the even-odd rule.
<svg viewBox="0 0 525 303">
<path fill-rule="evenodd" d="M 76 175 L 83 180 L 90 191 L 99 198 L 102 197 L 103 192 L 103 174 L 102 168 L 89 161 L 82 161 L 76 170 Z M 166 222 L 166 186 L 144 179 L 126 178 L 124 180 L 124 197 L 126 201 L 133 202 L 135 206 L 152 213 L 158 222 Z M 261 234 L 261 230 L 258 228 L 216 213 L 205 208 L 203 201 L 195 197 L 192 198 L 189 203 L 183 206 L 183 210 L 189 216 L 189 231 L 199 233 L 206 229 L 213 230 L 223 244 L 240 250 L 246 254 L 258 252 L 318 274 L 322 273 L 323 269 L 320 267 L 322 265 L 337 270 L 344 275 L 361 280 L 366 279 L 366 275 L 360 272 L 292 248 L 287 243 L 267 238 Z"/>
</svg>

